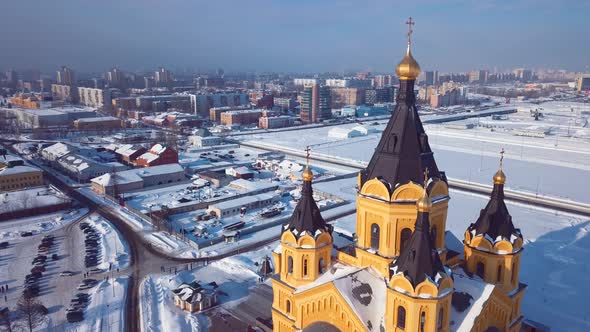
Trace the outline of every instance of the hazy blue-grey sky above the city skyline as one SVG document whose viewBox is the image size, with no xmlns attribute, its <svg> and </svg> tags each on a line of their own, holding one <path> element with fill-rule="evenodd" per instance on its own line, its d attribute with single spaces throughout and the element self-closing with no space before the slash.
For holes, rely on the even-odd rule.
<svg viewBox="0 0 590 332">
<path fill-rule="evenodd" d="M 588 0 L 1 0 L 0 68 L 589 70 Z"/>
</svg>

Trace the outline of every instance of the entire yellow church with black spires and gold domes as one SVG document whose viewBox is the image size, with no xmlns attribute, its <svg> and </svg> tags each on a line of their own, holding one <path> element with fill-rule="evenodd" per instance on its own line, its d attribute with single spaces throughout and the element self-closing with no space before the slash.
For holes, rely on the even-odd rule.
<svg viewBox="0 0 590 332">
<path fill-rule="evenodd" d="M 308 158 L 301 198 L 273 251 L 276 332 L 521 330 L 523 236 L 504 203 L 502 158 L 489 202 L 466 221 L 463 252 L 447 248 L 449 188 L 415 105 L 420 66 L 407 23 L 397 105 L 358 174 L 356 237 L 344 249 L 334 248 L 313 199 Z"/>
</svg>

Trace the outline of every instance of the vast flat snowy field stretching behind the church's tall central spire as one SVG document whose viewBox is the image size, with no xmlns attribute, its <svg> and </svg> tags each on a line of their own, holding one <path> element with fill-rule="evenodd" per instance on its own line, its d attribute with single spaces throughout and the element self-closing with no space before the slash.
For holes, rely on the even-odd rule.
<svg viewBox="0 0 590 332">
<path fill-rule="evenodd" d="M 542 107 L 545 112 L 540 122 L 530 117 L 529 110 L 533 106 Z M 570 106 L 574 112 L 571 112 Z M 590 107 L 556 102 L 517 104 L 515 107 L 520 111 L 510 114 L 508 120 L 481 118 L 480 127 L 476 129 L 454 129 L 448 126 L 473 123 L 477 119 L 426 125 L 439 168 L 446 171 L 449 178 L 490 184 L 498 167 L 499 151 L 504 148 L 507 187 L 590 202 L 590 197 L 585 195 L 586 188 L 590 186 L 590 128 L 586 119 L 588 116 L 582 114 Z M 365 123 L 366 127 L 374 128 L 377 132 L 344 140 L 328 137 L 327 128 L 241 136 L 240 139 L 259 146 L 287 147 L 300 151 L 310 145 L 316 154 L 368 162 L 385 123 Z M 342 127 L 352 128 L 356 125 Z M 509 131 L 510 128 L 533 130 L 532 126 L 544 126 L 549 134 L 545 138 L 537 138 L 515 136 Z"/>
</svg>

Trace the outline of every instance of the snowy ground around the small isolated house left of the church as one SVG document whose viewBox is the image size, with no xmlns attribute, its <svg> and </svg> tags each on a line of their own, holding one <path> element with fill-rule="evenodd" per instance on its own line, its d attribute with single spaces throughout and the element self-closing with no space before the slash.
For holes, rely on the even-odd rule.
<svg viewBox="0 0 590 332">
<path fill-rule="evenodd" d="M 151 275 L 140 285 L 141 323 L 143 331 L 200 331 L 206 330 L 209 321 L 203 314 L 191 314 L 174 305 L 172 290 L 181 283 L 199 281 L 216 282 L 225 295 L 219 296 L 221 306 L 234 306 L 248 296 L 249 289 L 258 282 L 258 267 L 264 256 L 276 243 L 220 261 L 192 271 L 178 274 Z"/>
</svg>

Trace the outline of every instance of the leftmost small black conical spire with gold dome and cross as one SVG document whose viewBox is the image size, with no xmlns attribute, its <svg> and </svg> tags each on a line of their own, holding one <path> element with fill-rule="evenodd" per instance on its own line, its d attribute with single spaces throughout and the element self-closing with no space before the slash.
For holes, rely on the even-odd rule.
<svg viewBox="0 0 590 332">
<path fill-rule="evenodd" d="M 322 218 L 320 209 L 313 199 L 313 190 L 311 188 L 313 173 L 309 168 L 309 147 L 307 147 L 306 151 L 307 166 L 303 171 L 301 198 L 299 199 L 289 222 L 284 227 L 284 230 L 289 229 L 297 236 L 304 231 L 310 233 L 311 236 L 314 236 L 317 230 L 329 230 L 328 224 L 324 218 Z"/>
</svg>

